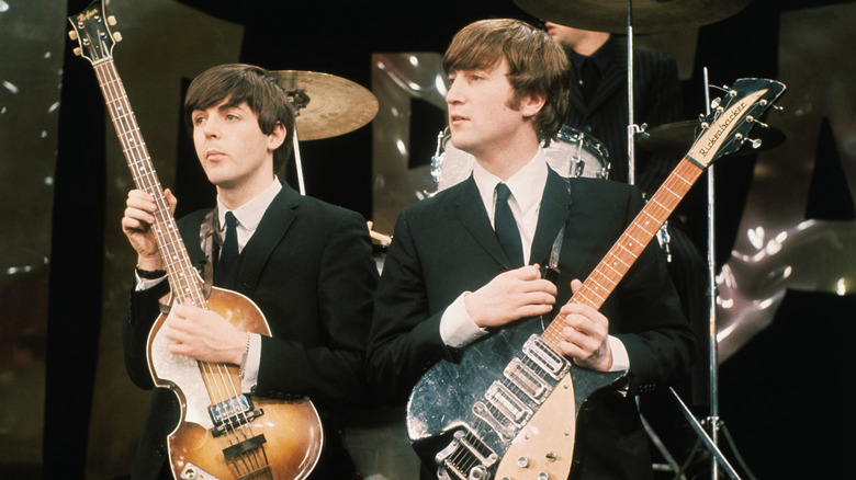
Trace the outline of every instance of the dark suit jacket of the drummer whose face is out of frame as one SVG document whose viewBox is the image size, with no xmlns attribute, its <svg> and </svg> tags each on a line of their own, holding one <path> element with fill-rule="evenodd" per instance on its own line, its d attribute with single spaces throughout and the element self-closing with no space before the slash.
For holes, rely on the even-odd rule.
<svg viewBox="0 0 856 480">
<path fill-rule="evenodd" d="M 583 92 L 571 85 L 571 105 L 566 125 L 590 134 L 604 144 L 611 162 L 610 180 L 628 182 L 628 115 L 627 44 L 610 38 L 601 48 L 610 48 L 613 57 L 592 101 L 586 105 Z M 651 50 L 633 55 L 633 123 L 649 128 L 684 119 L 680 82 L 674 58 Z M 689 150 L 689 145 L 687 145 Z M 674 156 L 652 153 L 634 148 L 635 185 L 653 194 L 680 160 Z"/>
</svg>

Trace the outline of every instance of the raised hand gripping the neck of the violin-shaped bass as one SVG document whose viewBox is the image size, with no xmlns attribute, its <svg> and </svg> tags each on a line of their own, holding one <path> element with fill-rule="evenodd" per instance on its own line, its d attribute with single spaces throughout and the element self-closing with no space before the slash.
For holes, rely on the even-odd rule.
<svg viewBox="0 0 856 480">
<path fill-rule="evenodd" d="M 169 215 L 171 216 L 176 212 L 178 199 L 169 188 L 164 191 L 164 196 L 169 203 Z M 137 267 L 146 271 L 165 270 L 158 239 L 151 228 L 157 210 L 155 197 L 142 190 L 132 190 L 127 194 L 125 206 L 122 231 L 137 252 Z"/>
</svg>

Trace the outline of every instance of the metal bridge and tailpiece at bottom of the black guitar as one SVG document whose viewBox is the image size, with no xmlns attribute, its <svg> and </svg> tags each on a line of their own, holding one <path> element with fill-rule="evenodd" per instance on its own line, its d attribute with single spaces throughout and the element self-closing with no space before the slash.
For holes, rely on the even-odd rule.
<svg viewBox="0 0 856 480">
<path fill-rule="evenodd" d="M 499 456 L 466 425 L 454 432 L 454 439 L 435 457 L 440 480 L 487 480 L 488 469 Z"/>
</svg>

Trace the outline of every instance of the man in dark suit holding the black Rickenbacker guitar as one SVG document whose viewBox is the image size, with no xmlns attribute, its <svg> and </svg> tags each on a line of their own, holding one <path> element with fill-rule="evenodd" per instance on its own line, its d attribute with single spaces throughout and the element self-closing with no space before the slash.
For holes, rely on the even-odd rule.
<svg viewBox="0 0 856 480">
<path fill-rule="evenodd" d="M 540 141 L 565 118 L 570 72 L 545 32 L 515 20 L 475 22 L 455 35 L 443 69 L 452 144 L 476 164 L 468 180 L 405 208 L 396 221 L 372 321 L 372 389 L 404 402 L 438 362 L 455 364 L 502 330 L 561 313 L 570 327 L 559 353 L 579 367 L 628 370 L 584 407 L 571 478 L 651 479 L 633 396 L 684 376 L 694 346 L 665 259 L 656 244 L 645 249 L 599 310 L 567 302 L 641 209 L 639 190 L 563 179 L 548 167 Z M 540 266 L 560 231 L 553 283 Z M 532 317 L 536 323 L 526 320 Z M 574 411 L 566 413 L 550 427 L 571 424 Z M 423 478 L 437 478 L 437 469 L 424 456 Z"/>
</svg>

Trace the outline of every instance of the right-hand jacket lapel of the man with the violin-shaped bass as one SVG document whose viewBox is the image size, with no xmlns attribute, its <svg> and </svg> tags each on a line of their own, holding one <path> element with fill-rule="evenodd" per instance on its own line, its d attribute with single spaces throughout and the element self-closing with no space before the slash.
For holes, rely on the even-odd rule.
<svg viewBox="0 0 856 480">
<path fill-rule="evenodd" d="M 261 217 L 238 262 L 236 287 L 243 294 L 251 295 L 256 289 L 264 264 L 297 217 L 297 199 L 299 194 L 283 184 Z"/>
</svg>

